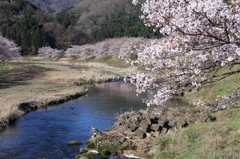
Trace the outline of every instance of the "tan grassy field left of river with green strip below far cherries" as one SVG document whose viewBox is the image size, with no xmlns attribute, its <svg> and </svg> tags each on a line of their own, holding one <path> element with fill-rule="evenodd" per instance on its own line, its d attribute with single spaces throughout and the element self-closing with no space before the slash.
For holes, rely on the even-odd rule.
<svg viewBox="0 0 240 159">
<path fill-rule="evenodd" d="M 86 92 L 86 85 L 134 72 L 136 70 L 117 58 L 83 61 L 24 57 L 22 61 L 0 65 L 0 129 L 24 115 L 25 112 L 18 109 L 21 103 L 58 102 L 69 95 Z"/>
</svg>

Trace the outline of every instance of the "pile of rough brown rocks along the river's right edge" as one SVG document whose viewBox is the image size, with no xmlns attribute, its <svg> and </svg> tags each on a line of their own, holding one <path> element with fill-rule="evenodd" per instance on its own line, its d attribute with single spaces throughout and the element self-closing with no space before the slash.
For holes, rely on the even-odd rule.
<svg viewBox="0 0 240 159">
<path fill-rule="evenodd" d="M 85 156 L 86 150 L 97 150 L 102 156 L 139 156 L 151 158 L 161 146 L 157 139 L 171 135 L 195 123 L 212 122 L 205 112 L 194 108 L 147 108 L 125 112 L 118 117 L 110 132 L 95 132 L 87 148 L 76 159 Z M 86 157 L 86 156 L 85 156 Z M 88 158 L 91 158 L 88 156 Z"/>
</svg>

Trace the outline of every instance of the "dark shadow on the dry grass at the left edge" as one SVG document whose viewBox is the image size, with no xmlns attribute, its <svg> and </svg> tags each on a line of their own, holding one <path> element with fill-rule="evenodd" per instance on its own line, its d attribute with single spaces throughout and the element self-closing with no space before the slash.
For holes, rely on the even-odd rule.
<svg viewBox="0 0 240 159">
<path fill-rule="evenodd" d="M 34 63 L 15 63 L 14 65 L 17 67 L 0 72 L 0 89 L 27 85 L 28 80 L 44 76 L 47 71 L 54 71 L 54 69 L 37 66 Z"/>
</svg>

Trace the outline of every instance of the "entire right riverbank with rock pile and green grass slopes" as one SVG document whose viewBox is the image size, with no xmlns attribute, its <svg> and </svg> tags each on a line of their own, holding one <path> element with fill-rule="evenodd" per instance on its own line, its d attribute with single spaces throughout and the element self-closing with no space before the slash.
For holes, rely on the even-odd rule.
<svg viewBox="0 0 240 159">
<path fill-rule="evenodd" d="M 103 156 L 154 159 L 239 158 L 239 97 L 232 98 L 232 102 L 216 101 L 217 96 L 239 92 L 239 70 L 240 65 L 235 65 L 210 72 L 206 76 L 213 77 L 211 80 L 200 89 L 187 88 L 182 98 L 188 103 L 200 100 L 212 104 L 190 104 L 188 109 L 166 111 L 156 108 L 120 114 L 112 131 L 91 137 L 86 149 L 98 150 Z M 229 109 L 206 111 L 220 102 Z M 76 159 L 81 156 L 84 153 Z"/>
</svg>

